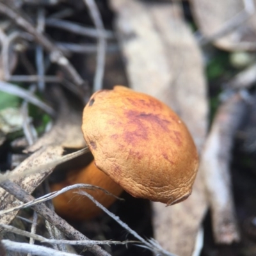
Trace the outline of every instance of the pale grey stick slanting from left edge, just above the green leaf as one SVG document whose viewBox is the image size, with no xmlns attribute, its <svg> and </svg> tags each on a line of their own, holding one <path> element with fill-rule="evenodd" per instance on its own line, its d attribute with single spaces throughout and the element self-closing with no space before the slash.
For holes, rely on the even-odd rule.
<svg viewBox="0 0 256 256">
<path fill-rule="evenodd" d="M 24 100 L 28 100 L 29 103 L 34 104 L 38 108 L 43 109 L 46 113 L 48 113 L 51 116 L 55 115 L 54 109 L 52 109 L 50 106 L 42 102 L 40 99 L 38 99 L 33 93 L 20 88 L 19 86 L 15 86 L 10 83 L 6 83 L 4 81 L 0 81 L 0 91 L 10 93 L 12 95 L 18 96 Z"/>
</svg>

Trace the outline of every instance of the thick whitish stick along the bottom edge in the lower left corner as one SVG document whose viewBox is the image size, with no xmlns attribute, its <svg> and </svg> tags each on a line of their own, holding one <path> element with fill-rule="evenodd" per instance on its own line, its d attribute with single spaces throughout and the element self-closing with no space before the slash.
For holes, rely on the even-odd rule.
<svg viewBox="0 0 256 256">
<path fill-rule="evenodd" d="M 38 255 L 38 256 L 49 256 L 49 255 L 77 256 L 77 254 L 74 254 L 74 253 L 60 252 L 52 248 L 47 248 L 42 245 L 19 243 L 19 242 L 13 242 L 5 239 L 2 240 L 1 242 L 5 250 L 9 252 L 32 253 L 33 255 Z"/>
</svg>

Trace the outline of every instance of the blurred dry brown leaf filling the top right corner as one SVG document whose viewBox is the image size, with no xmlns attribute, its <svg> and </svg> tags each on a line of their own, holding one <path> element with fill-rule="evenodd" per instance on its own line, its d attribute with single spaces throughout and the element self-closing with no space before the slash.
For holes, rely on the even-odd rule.
<svg viewBox="0 0 256 256">
<path fill-rule="evenodd" d="M 230 33 L 214 40 L 216 46 L 230 51 L 256 49 L 256 13 L 250 6 L 245 10 L 245 2 L 191 0 L 196 24 L 206 38 L 215 37 L 221 29 L 234 27 Z"/>
</svg>

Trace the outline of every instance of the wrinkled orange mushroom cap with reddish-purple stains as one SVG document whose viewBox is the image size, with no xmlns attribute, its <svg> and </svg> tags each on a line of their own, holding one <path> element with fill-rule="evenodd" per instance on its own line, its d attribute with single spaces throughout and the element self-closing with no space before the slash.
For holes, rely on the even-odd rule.
<svg viewBox="0 0 256 256">
<path fill-rule="evenodd" d="M 195 143 L 172 109 L 124 86 L 95 92 L 82 130 L 95 164 L 132 196 L 171 205 L 191 194 Z"/>
</svg>

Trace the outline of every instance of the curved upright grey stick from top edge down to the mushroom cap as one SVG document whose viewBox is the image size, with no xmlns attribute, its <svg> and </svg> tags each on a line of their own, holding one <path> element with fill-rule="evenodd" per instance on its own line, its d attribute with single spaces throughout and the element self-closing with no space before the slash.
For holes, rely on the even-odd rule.
<svg viewBox="0 0 256 256">
<path fill-rule="evenodd" d="M 102 89 L 102 81 L 104 77 L 105 55 L 106 55 L 106 39 L 104 37 L 104 25 L 100 16 L 99 9 L 94 0 L 84 0 L 93 23 L 97 29 L 98 46 L 97 46 L 97 64 L 93 81 L 93 92 Z"/>
</svg>

